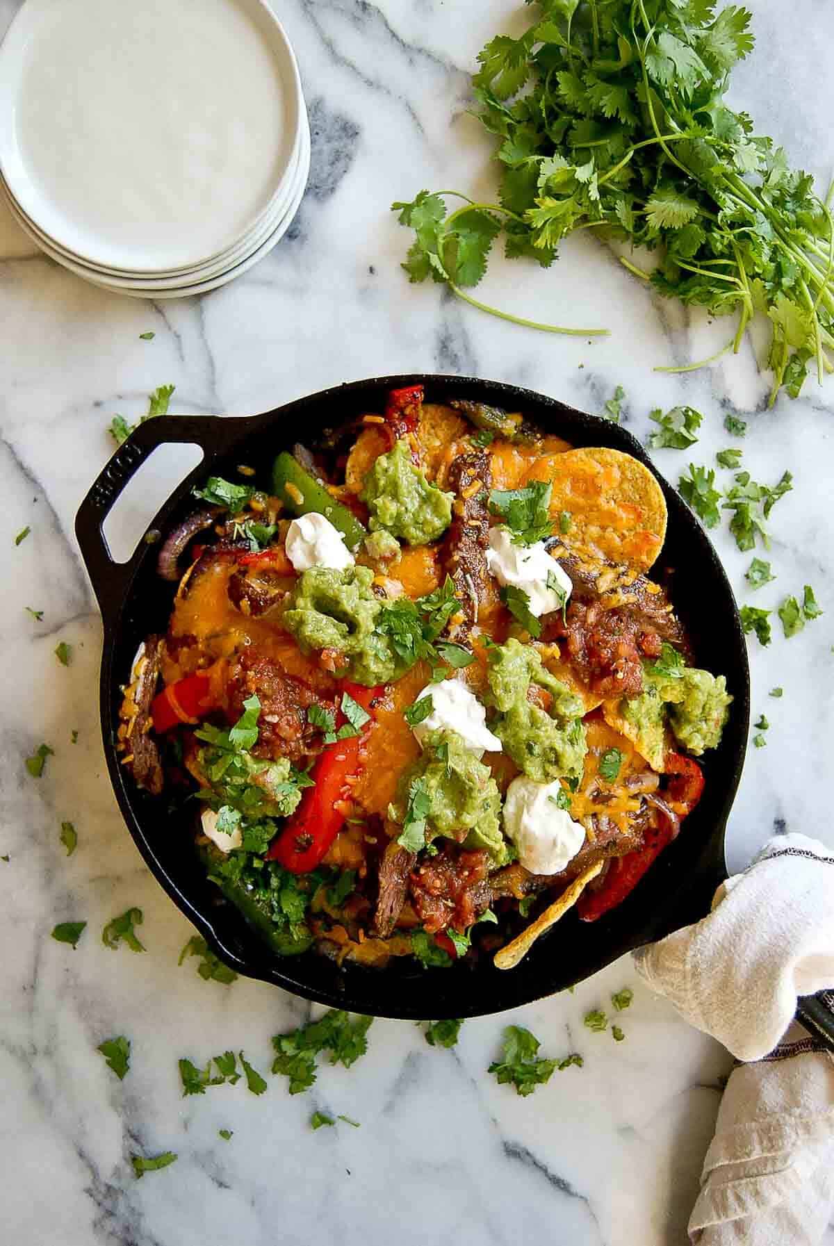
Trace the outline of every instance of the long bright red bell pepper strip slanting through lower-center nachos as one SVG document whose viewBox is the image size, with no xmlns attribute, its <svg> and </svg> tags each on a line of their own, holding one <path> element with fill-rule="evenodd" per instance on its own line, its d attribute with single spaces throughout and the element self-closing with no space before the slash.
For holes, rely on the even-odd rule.
<svg viewBox="0 0 834 1246">
<path fill-rule="evenodd" d="M 368 713 L 371 713 L 370 705 L 383 690 L 363 688 L 348 680 L 343 680 L 340 687 Z M 359 773 L 363 734 L 337 740 L 320 754 L 310 771 L 315 786 L 304 789 L 298 809 L 271 844 L 268 861 L 278 861 L 293 873 L 309 873 L 322 862 L 344 822 L 344 814 L 338 806 L 350 795 L 348 780 Z"/>
</svg>

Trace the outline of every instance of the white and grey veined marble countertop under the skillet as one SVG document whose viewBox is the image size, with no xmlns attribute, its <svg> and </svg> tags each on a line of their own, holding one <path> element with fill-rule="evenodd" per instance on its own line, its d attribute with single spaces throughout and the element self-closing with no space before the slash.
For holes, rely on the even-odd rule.
<svg viewBox="0 0 834 1246">
<path fill-rule="evenodd" d="M 0 31 L 16 7 L 0 0 Z M 834 40 L 834 10 L 794 0 L 788 24 L 777 0 L 750 7 L 758 50 L 734 75 L 734 101 L 827 184 L 834 86 L 819 65 Z M 395 371 L 491 376 L 590 411 L 620 384 L 623 422 L 641 437 L 653 406 L 701 410 L 692 457 L 707 464 L 727 444 L 724 414 L 743 415 L 753 476 L 794 475 L 774 525 L 779 579 L 755 601 L 775 606 L 813 583 L 827 613 L 802 637 L 784 640 L 777 627 L 769 648 L 750 644 L 753 713 L 765 711 L 772 725 L 767 748 L 748 756 L 728 861 L 742 867 L 774 831 L 834 844 L 822 794 L 834 713 L 834 380 L 822 390 L 809 383 L 799 401 L 782 399 L 769 411 L 749 343 L 708 370 L 653 373 L 656 364 L 711 354 L 726 326 L 653 300 L 587 237 L 565 245 L 550 273 L 496 262 L 484 289 L 539 319 L 608 323 L 615 333 L 605 341 L 536 335 L 431 284 L 410 288 L 398 267 L 409 239 L 388 206 L 423 186 L 489 186 L 489 143 L 466 115 L 467 71 L 482 42 L 517 14 L 499 0 L 466 6 L 465 20 L 460 5 L 444 0 L 287 0 L 280 16 L 302 67 L 313 167 L 292 229 L 243 278 L 199 299 L 122 299 L 42 258 L 0 218 L 0 563 L 7 586 L 0 611 L 0 1219 L 19 1246 L 679 1244 L 731 1060 L 638 986 L 627 959 L 575 994 L 467 1022 L 453 1052 L 426 1045 L 414 1024 L 378 1020 L 370 1054 L 349 1072 L 322 1068 L 305 1095 L 290 1098 L 269 1077 L 262 1098 L 243 1083 L 180 1096 L 178 1057 L 201 1063 L 216 1050 L 244 1049 L 266 1072 L 271 1035 L 309 1008 L 261 983 L 203 982 L 193 961 L 177 966 L 192 930 L 140 860 L 105 773 L 100 618 L 72 521 L 112 450 L 110 419 L 136 419 L 157 385 L 176 384 L 175 411 L 249 414 Z M 153 340 L 140 340 L 147 330 Z M 677 480 L 688 456 L 659 451 L 656 461 Z M 163 452 L 138 477 L 115 536 L 125 552 L 181 473 L 182 461 Z M 15 547 L 25 526 L 31 535 Z M 726 528 L 714 540 L 739 597 L 750 599 L 749 556 Z M 25 606 L 42 609 L 42 621 Z M 60 640 L 74 647 L 69 669 L 54 655 Z M 784 687 L 782 700 L 768 697 L 775 684 Z M 34 780 L 24 759 L 41 741 L 55 755 Z M 62 820 L 79 834 L 69 858 L 59 841 Z M 108 951 L 98 938 L 128 906 L 145 913 L 145 954 Z M 75 918 L 89 930 L 72 952 L 49 932 Z M 626 1042 L 583 1029 L 585 1011 L 626 984 L 635 987 L 622 1020 Z M 486 1073 L 507 1022 L 529 1025 L 546 1054 L 580 1050 L 585 1067 L 517 1098 Z M 113 1034 L 132 1040 L 125 1082 L 96 1052 Z M 360 1128 L 314 1133 L 314 1109 L 345 1113 Z M 219 1129 L 233 1130 L 231 1141 Z M 130 1154 L 168 1149 L 176 1165 L 137 1181 Z"/>
</svg>

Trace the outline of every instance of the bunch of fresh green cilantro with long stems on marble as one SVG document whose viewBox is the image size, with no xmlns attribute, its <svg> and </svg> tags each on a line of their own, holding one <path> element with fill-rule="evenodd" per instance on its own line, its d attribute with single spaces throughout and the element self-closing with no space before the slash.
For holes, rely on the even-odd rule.
<svg viewBox="0 0 834 1246">
<path fill-rule="evenodd" d="M 737 314 L 719 354 L 738 351 L 764 314 L 772 402 L 782 388 L 799 394 L 810 360 L 822 380 L 834 348 L 834 227 L 813 179 L 724 101 L 731 70 L 753 49 L 747 10 L 716 14 L 709 0 L 537 7 L 521 37 L 490 40 L 474 77 L 480 120 L 497 141 L 499 202 L 459 196 L 448 214 L 458 192 L 421 191 L 393 204 L 416 235 L 403 265 L 410 279 L 445 282 L 495 313 L 465 289 L 501 232 L 507 258 L 547 268 L 563 238 L 595 229 L 657 252 L 651 273 L 622 263 L 658 293 Z"/>
</svg>

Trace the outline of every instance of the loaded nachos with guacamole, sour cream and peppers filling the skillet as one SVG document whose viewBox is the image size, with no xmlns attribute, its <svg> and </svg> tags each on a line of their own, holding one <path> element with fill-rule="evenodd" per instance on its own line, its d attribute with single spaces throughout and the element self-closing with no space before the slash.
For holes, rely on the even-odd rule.
<svg viewBox="0 0 834 1246">
<path fill-rule="evenodd" d="M 633 890 L 732 700 L 647 576 L 641 462 L 415 386 L 196 493 L 120 750 L 274 951 L 511 968 Z"/>
</svg>

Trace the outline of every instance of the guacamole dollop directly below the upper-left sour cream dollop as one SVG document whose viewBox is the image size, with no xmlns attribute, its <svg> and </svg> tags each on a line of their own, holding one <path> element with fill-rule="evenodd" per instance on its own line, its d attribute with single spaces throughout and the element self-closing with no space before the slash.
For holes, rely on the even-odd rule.
<svg viewBox="0 0 834 1246">
<path fill-rule="evenodd" d="M 358 684 L 369 688 L 399 679 L 408 669 L 376 628 L 383 603 L 371 591 L 370 567 L 312 567 L 289 593 L 283 624 L 303 653 L 335 649 Z"/>
</svg>

